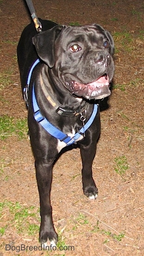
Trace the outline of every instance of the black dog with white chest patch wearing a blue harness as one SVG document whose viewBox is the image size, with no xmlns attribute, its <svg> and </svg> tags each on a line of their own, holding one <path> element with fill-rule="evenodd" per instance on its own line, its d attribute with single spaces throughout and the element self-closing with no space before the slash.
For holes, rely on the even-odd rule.
<svg viewBox="0 0 144 256">
<path fill-rule="evenodd" d="M 56 245 L 50 189 L 53 163 L 62 148 L 78 143 L 83 192 L 95 199 L 98 189 L 92 162 L 100 135 L 100 111 L 94 100 L 110 95 L 114 43 L 99 25 L 58 26 L 40 20 L 43 31 L 28 25 L 18 45 L 22 90 L 40 196 L 42 245 Z M 33 44 L 32 44 L 33 42 Z"/>
</svg>

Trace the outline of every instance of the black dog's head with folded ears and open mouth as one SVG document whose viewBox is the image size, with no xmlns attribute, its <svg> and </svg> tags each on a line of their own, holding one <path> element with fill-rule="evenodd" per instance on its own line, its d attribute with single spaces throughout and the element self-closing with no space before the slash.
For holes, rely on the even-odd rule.
<svg viewBox="0 0 144 256">
<path fill-rule="evenodd" d="M 38 56 L 72 94 L 102 99 L 111 94 L 114 42 L 99 25 L 56 26 L 32 39 Z"/>
</svg>

